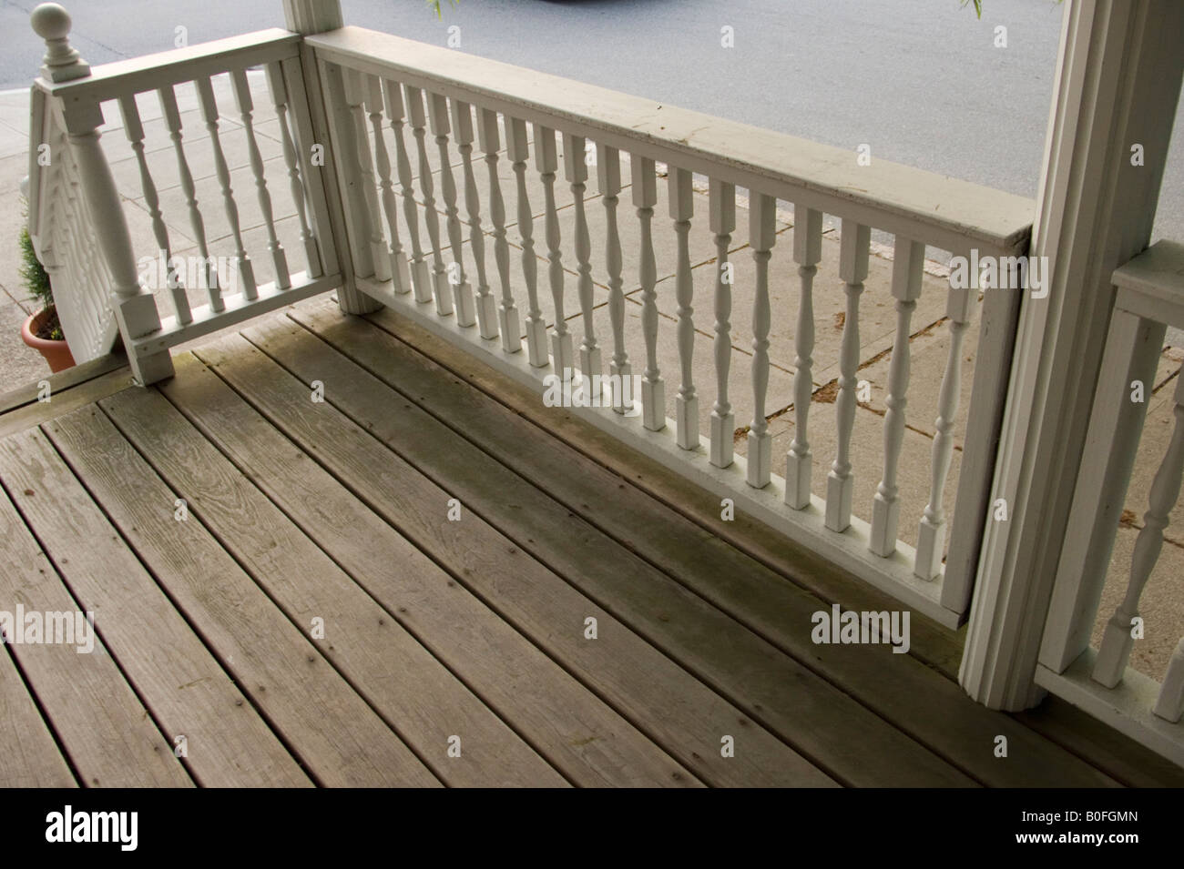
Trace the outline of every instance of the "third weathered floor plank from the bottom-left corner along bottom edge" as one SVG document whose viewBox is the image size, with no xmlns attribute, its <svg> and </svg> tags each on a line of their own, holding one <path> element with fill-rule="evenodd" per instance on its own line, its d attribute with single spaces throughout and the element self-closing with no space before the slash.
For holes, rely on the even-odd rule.
<svg viewBox="0 0 1184 869">
<path fill-rule="evenodd" d="M 91 406 L 82 413 L 97 410 Z M 0 450 L 0 468 L 18 508 L 79 604 L 95 612 L 104 643 L 168 741 L 174 746 L 184 741 L 185 764 L 197 783 L 213 787 L 307 783 L 45 435 L 37 430 L 14 435 Z M 172 519 L 173 499 L 160 501 L 156 510 Z M 98 540 L 107 545 L 97 546 Z"/>
</svg>

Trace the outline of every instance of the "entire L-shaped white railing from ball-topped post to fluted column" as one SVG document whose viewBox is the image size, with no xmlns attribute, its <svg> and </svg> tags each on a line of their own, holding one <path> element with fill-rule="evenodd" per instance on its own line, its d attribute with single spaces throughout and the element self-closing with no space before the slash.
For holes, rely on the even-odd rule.
<svg viewBox="0 0 1184 869">
<path fill-rule="evenodd" d="M 985 294 L 964 460 L 952 508 L 944 489 L 954 448 L 963 342 L 978 291 L 971 283 L 951 290 L 946 298 L 950 350 L 916 549 L 899 539 L 913 312 L 922 288 L 926 245 L 969 258 L 1023 254 L 1030 233 L 1029 200 L 884 161 L 862 166 L 855 151 L 356 27 L 335 27 L 303 38 L 265 31 L 89 70 L 69 48 L 69 18 L 59 8 L 39 7 L 33 19 L 50 46 L 36 87 L 46 105 L 59 108 L 62 129 L 76 160 L 76 167 L 62 162 L 56 171 L 84 190 L 96 247 L 110 273 L 105 284 L 67 281 L 59 305 L 92 306 L 99 290 L 109 288 L 111 310 L 141 382 L 172 374 L 170 346 L 333 287 L 346 293 L 361 291 L 406 313 L 540 394 L 547 375 L 565 370 L 584 376 L 607 370 L 625 382 L 635 369 L 641 370 L 639 396 L 622 390 L 614 407 L 573 410 L 677 473 L 733 499 L 738 510 L 747 510 L 906 605 L 948 625 L 965 617 L 987 512 L 1019 293 Z M 253 66 L 266 72 L 282 130 L 288 182 L 301 222 L 302 249 L 296 255 L 307 262 L 301 272 L 290 271 L 292 252 L 279 244 L 275 228 L 271 197 L 279 184 L 269 186 L 256 143 L 246 73 Z M 232 131 L 223 130 L 219 123 L 214 76 L 229 76 L 232 84 L 233 117 L 240 128 L 233 134 L 246 138 L 268 235 L 262 251 L 249 251 L 239 232 L 238 194 L 231 189 L 221 147 Z M 179 277 L 170 272 L 167 298 L 173 310 L 161 316 L 135 265 L 136 253 L 168 254 L 173 247 L 155 171 L 146 158 L 136 96 L 154 96 L 161 106 L 192 234 L 206 259 L 210 249 L 204 215 L 210 206 L 199 203 L 194 193 L 186 150 L 192 136 L 182 130 L 174 90 L 181 83 L 197 89 L 243 292 L 227 298 L 212 281 L 207 300 L 191 305 Z M 156 249 L 133 249 L 111 170 L 98 144 L 104 106 L 117 106 L 122 115 Z M 51 116 L 47 110 L 46 117 Z M 317 145 L 328 145 L 323 149 L 324 168 L 311 158 Z M 432 166 L 432 150 L 437 166 Z M 596 155 L 594 169 L 592 161 L 585 160 L 588 153 Z M 481 182 L 475 155 L 485 163 Z M 532 160 L 541 186 L 540 227 L 535 227 L 538 212 L 529 201 L 539 193 L 534 188 L 532 194 Z M 507 164 L 521 236 L 521 249 L 514 257 L 502 192 L 501 170 Z M 655 213 L 659 168 L 667 183 L 667 227 L 674 233 L 677 251 L 673 284 L 678 365 L 673 372 L 661 370 L 658 354 L 663 318 L 657 305 L 655 239 L 667 219 Z M 433 177 L 437 170 L 438 180 Z M 561 233 L 558 183 L 567 186 L 572 199 L 574 229 L 570 238 Z M 696 183 L 708 192 L 706 220 L 718 255 L 712 285 L 697 287 L 697 297 L 689 247 L 696 220 Z M 593 184 L 605 227 L 596 238 L 586 208 Z M 41 190 L 44 201 L 52 199 L 44 186 Z M 733 287 L 725 279 L 741 193 L 747 197 L 747 241 L 755 272 L 751 318 L 740 320 L 753 346 L 751 422 L 736 420 L 728 391 L 732 361 L 742 358 L 732 350 Z M 623 323 L 622 238 L 631 232 L 620 214 L 623 196 L 636 209 L 643 346 L 629 346 Z M 794 212 L 793 245 L 784 254 L 774 249 L 778 201 L 793 203 Z M 847 301 L 835 455 L 815 454 L 810 420 L 815 281 L 824 215 L 841 221 L 837 277 Z M 856 468 L 851 437 L 860 299 L 873 231 L 895 236 L 895 330 L 882 462 Z M 339 251 L 346 253 L 340 261 Z M 767 420 L 770 332 L 777 316 L 771 304 L 770 262 L 781 255 L 797 265 L 794 436 L 784 459 L 774 459 Z M 593 257 L 604 258 L 610 275 L 607 335 L 596 329 Z M 578 337 L 565 311 L 565 261 L 574 262 L 577 273 Z M 84 262 L 72 268 L 85 267 Z M 272 280 L 263 283 L 265 273 Z M 549 316 L 543 313 L 545 296 L 549 296 Z M 714 313 L 714 370 L 707 383 L 696 381 L 693 364 L 695 301 L 704 298 Z M 675 419 L 667 419 L 667 378 L 676 382 L 671 384 L 677 390 Z M 628 411 L 638 398 L 639 415 L 635 417 Z M 708 398 L 713 401 L 709 430 L 701 433 L 699 404 Z M 746 456 L 735 455 L 733 448 L 738 422 L 748 422 Z M 815 473 L 826 474 L 825 499 L 812 492 Z M 880 480 L 866 505 L 868 521 L 857 515 L 860 506 L 852 504 L 856 473 Z"/>
</svg>

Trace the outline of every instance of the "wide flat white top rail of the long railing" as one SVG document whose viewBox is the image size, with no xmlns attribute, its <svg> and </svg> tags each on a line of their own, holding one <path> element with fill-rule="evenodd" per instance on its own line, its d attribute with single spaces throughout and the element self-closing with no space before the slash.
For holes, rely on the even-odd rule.
<svg viewBox="0 0 1184 869">
<path fill-rule="evenodd" d="M 854 150 L 656 103 L 449 48 L 342 27 L 305 37 L 330 63 L 578 132 L 953 252 L 1027 249 L 1035 205 L 1002 190 Z"/>
</svg>

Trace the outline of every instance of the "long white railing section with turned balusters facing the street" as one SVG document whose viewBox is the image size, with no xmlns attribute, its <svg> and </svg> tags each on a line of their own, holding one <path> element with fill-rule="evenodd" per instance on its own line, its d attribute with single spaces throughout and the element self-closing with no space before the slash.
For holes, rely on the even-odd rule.
<svg viewBox="0 0 1184 869">
<path fill-rule="evenodd" d="M 359 288 L 540 393 L 542 378 L 559 376 L 565 370 L 583 375 L 607 372 L 623 378 L 635 369 L 643 370 L 638 417 L 626 415 L 632 401 L 622 401 L 619 396 L 613 409 L 577 408 L 575 411 L 677 473 L 733 499 L 736 508 L 760 517 L 906 604 L 946 624 L 959 622 L 969 604 L 985 515 L 1018 293 L 986 294 L 966 458 L 951 517 L 942 489 L 953 450 L 961 341 L 978 293 L 973 287 L 950 292 L 946 304 L 950 354 L 933 442 L 929 501 L 915 550 L 897 539 L 912 313 L 921 293 L 926 245 L 963 255 L 970 255 L 972 249 L 993 257 L 1025 253 L 1030 201 L 882 161 L 860 166 L 854 151 L 358 27 L 309 35 L 305 44 L 316 57 L 327 100 L 339 117 L 346 118 L 333 131 L 335 151 L 342 155 L 336 163 L 340 184 L 342 189 L 361 192 L 353 197 L 347 215 Z M 429 136 L 439 153 L 438 182 L 432 180 L 429 164 Z M 482 173 L 485 176 L 482 184 L 474 167 L 475 147 L 487 169 Z M 585 160 L 586 154 L 594 154 L 594 161 Z M 536 210 L 529 202 L 532 157 L 542 188 L 541 227 L 535 227 Z M 507 242 L 502 161 L 510 164 L 510 183 L 516 190 L 521 273 L 514 268 Z M 413 166 L 418 168 L 414 179 Z M 680 364 L 673 372 L 659 370 L 658 364 L 658 328 L 663 318 L 656 304 L 654 239 L 665 218 L 655 213 L 658 167 L 665 169 L 670 220 L 667 226 L 674 232 L 677 248 L 674 293 Z M 560 173 L 574 206 L 570 239 L 560 234 L 555 197 Z M 461 192 L 456 174 L 461 175 Z M 704 216 L 718 255 L 712 286 L 699 287 L 697 297 L 688 249 L 695 220 L 696 180 L 701 189 L 709 190 Z M 401 213 L 395 184 L 401 194 Z M 593 195 L 592 184 L 600 194 L 606 227 L 596 239 L 591 238 L 585 206 L 585 200 Z M 751 324 L 746 331 L 754 350 L 751 362 L 754 411 L 744 458 L 733 452 L 738 421 L 728 394 L 728 376 L 734 358 L 729 319 L 734 314 L 732 287 L 723 278 L 736 231 L 738 188 L 747 194 L 747 238 L 755 264 L 755 300 L 751 320 L 744 320 Z M 644 338 L 641 348 L 626 346 L 623 323 L 619 210 L 626 193 L 636 208 L 641 248 L 638 281 Z M 485 214 L 482 197 L 488 203 Z M 772 257 L 780 254 L 773 249 L 778 200 L 793 203 L 793 249 L 785 255 L 792 257 L 798 266 L 799 305 L 794 330 L 794 439 L 787 455 L 774 460 L 766 420 L 766 390 L 774 316 L 768 266 Z M 813 391 L 812 299 L 824 214 L 842 221 L 838 277 L 848 299 L 837 395 L 838 450 L 834 456 L 815 455 L 809 417 Z M 488 239 L 485 227 L 489 227 Z M 426 245 L 422 229 L 426 231 Z M 896 324 L 883 424 L 883 462 L 856 469 L 850 446 L 856 408 L 860 296 L 868 274 L 873 229 L 895 235 L 892 293 Z M 487 244 L 493 248 L 493 266 L 487 264 Z M 458 257 L 457 251 L 465 253 Z M 543 255 L 545 268 L 540 270 Z M 593 255 L 603 257 L 609 271 L 607 336 L 596 330 Z M 564 264 L 572 260 L 581 314 L 579 336 L 573 333 L 565 312 Z M 542 310 L 543 293 L 549 293 L 553 311 L 549 318 Z M 697 299 L 706 299 L 709 310 L 714 309 L 714 378 L 709 383 L 696 382 L 694 377 Z M 667 378 L 673 378 L 671 388 L 677 389 L 675 419 L 665 415 Z M 714 398 L 709 432 L 703 434 L 697 411 L 701 395 Z M 816 462 L 825 462 L 819 465 L 819 472 L 828 475 L 825 499 L 811 493 Z M 776 469 L 784 469 L 784 476 Z M 866 513 L 870 521 L 852 512 L 856 472 L 875 474 L 881 480 Z M 942 565 L 947 534 L 950 556 Z"/>
</svg>

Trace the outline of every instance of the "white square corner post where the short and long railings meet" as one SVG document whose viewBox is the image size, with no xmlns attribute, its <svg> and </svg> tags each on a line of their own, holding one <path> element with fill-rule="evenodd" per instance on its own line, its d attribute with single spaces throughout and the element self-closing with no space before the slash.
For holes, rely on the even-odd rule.
<svg viewBox="0 0 1184 869">
<path fill-rule="evenodd" d="M 313 33 L 326 33 L 339 30 L 343 25 L 341 14 L 341 0 L 283 0 L 284 26 L 294 33 L 310 35 Z M 322 182 L 324 184 L 326 200 L 329 212 L 329 228 L 332 239 L 326 244 L 334 246 L 342 254 L 350 251 L 349 235 L 347 232 L 346 215 L 341 188 L 337 184 L 337 176 L 334 170 L 336 155 L 329 147 L 330 118 L 333 110 L 326 104 L 326 95 L 321 87 L 321 78 L 317 74 L 316 58 L 311 48 L 301 44 L 301 66 L 304 73 L 304 92 L 308 98 L 309 114 L 313 118 L 313 135 L 318 144 L 323 144 L 326 151 L 324 166 L 320 167 Z M 339 110 L 343 106 L 336 106 Z M 348 158 L 348 155 L 347 155 Z M 354 266 L 352 258 L 341 255 L 339 258 L 341 267 L 342 285 L 337 287 L 337 304 L 345 313 L 371 313 L 382 305 L 354 285 Z"/>
</svg>

